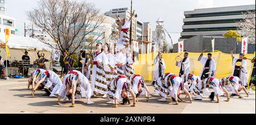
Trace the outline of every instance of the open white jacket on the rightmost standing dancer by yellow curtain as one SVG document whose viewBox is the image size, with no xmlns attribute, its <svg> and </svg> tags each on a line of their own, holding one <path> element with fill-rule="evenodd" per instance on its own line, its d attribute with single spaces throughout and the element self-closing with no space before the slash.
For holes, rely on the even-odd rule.
<svg viewBox="0 0 256 125">
<path fill-rule="evenodd" d="M 234 74 L 234 70 L 236 68 L 236 62 L 237 62 L 238 58 L 234 57 L 233 58 L 233 72 L 232 75 Z M 242 59 L 242 66 L 241 66 L 241 71 L 240 71 L 240 80 L 242 81 L 242 85 L 245 86 L 247 85 L 247 62 L 245 61 L 245 59 Z"/>
</svg>

